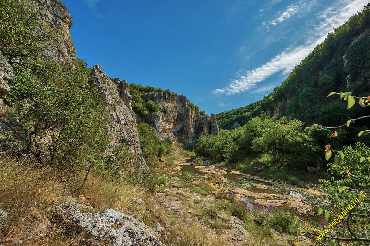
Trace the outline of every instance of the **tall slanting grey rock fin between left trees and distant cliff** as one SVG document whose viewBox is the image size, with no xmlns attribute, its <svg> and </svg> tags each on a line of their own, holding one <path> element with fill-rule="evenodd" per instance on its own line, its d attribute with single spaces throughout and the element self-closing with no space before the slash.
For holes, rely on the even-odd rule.
<svg viewBox="0 0 370 246">
<path fill-rule="evenodd" d="M 116 78 L 112 82 L 99 65 L 92 67 L 90 77 L 89 83 L 97 87 L 111 115 L 107 132 L 112 140 L 107 152 L 124 143 L 136 155 L 136 158 L 131 161 L 132 169 L 147 171 L 148 167 L 140 150 L 135 116 L 133 116 L 131 110 L 131 95 L 128 92 L 128 83 L 121 81 L 120 78 Z"/>
</svg>

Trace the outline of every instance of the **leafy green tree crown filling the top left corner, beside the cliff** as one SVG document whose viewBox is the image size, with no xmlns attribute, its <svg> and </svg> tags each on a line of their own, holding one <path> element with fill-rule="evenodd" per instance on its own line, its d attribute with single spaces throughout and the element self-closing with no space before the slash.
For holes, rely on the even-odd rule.
<svg viewBox="0 0 370 246">
<path fill-rule="evenodd" d="M 30 7 L 32 9 L 30 9 Z M 0 3 L 0 52 L 11 65 L 36 70 L 46 46 L 53 46 L 55 31 L 43 21 L 44 15 L 27 1 Z"/>
</svg>

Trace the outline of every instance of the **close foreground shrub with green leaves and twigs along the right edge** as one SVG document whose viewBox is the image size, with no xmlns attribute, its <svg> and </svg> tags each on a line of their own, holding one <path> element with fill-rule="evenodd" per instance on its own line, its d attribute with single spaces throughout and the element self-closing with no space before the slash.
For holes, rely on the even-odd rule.
<svg viewBox="0 0 370 246">
<path fill-rule="evenodd" d="M 352 108 L 356 99 L 358 104 L 365 108 L 370 106 L 369 97 L 357 97 L 351 92 L 332 92 L 329 96 L 338 94 L 340 98 L 347 100 L 347 108 Z M 332 136 L 337 137 L 336 129 L 347 126 L 370 116 L 357 119 L 349 119 L 346 124 L 327 127 L 334 129 Z M 363 130 L 358 136 L 368 133 Z M 329 171 L 340 179 L 319 180 L 323 184 L 319 187 L 327 191 L 326 196 L 317 196 L 322 200 L 329 201 L 329 205 L 319 208 L 319 215 L 324 214 L 328 222 L 338 219 L 337 223 L 326 226 L 310 223 L 312 228 L 322 231 L 306 231 L 305 234 L 316 236 L 316 240 L 322 245 L 341 245 L 351 242 L 351 245 L 369 245 L 370 242 L 370 149 L 363 143 L 357 143 L 356 147 L 343 147 L 343 151 L 333 150 L 331 145 L 325 146 L 325 157 L 327 160 L 333 157 L 334 162 L 329 164 Z M 332 224 L 332 223 L 331 223 Z"/>
</svg>

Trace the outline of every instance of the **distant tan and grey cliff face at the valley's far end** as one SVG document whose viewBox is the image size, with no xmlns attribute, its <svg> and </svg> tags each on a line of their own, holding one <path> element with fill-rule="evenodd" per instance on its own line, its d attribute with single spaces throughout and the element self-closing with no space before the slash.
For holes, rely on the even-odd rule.
<svg viewBox="0 0 370 246">
<path fill-rule="evenodd" d="M 194 110 L 188 108 L 186 96 L 170 92 L 152 92 L 141 96 L 144 101 L 152 100 L 159 106 L 157 113 L 145 117 L 137 115 L 137 122 L 148 122 L 149 128 L 161 140 L 167 137 L 179 141 L 184 148 L 195 144 L 199 136 L 218 135 L 219 129 L 215 116 L 195 116 Z M 168 108 L 168 113 L 164 113 Z"/>
</svg>

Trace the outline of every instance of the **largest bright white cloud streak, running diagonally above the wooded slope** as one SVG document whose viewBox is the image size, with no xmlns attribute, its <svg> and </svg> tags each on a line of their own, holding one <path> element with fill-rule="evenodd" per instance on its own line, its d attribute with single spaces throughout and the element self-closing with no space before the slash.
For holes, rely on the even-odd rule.
<svg viewBox="0 0 370 246">
<path fill-rule="evenodd" d="M 277 72 L 289 73 L 316 45 L 324 41 L 326 35 L 333 28 L 342 25 L 351 15 L 356 13 L 356 11 L 360 11 L 362 9 L 361 7 L 366 4 L 367 0 L 344 0 L 336 2 L 335 6 L 327 8 L 317 15 L 320 24 L 314 27 L 312 35 L 309 35 L 304 45 L 286 48 L 282 53 L 254 70 L 238 72 L 236 78 L 227 87 L 215 89 L 212 92 L 226 92 L 228 95 L 240 93 L 254 88 L 257 83 Z"/>
</svg>

